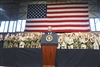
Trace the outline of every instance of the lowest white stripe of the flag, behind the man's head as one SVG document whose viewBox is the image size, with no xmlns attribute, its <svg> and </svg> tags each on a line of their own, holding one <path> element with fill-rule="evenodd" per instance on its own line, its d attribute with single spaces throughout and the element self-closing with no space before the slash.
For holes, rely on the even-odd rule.
<svg viewBox="0 0 100 67">
<path fill-rule="evenodd" d="M 48 30 L 47 27 L 26 27 L 26 30 Z M 52 27 L 52 30 L 87 30 L 90 27 Z"/>
</svg>

